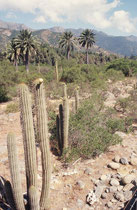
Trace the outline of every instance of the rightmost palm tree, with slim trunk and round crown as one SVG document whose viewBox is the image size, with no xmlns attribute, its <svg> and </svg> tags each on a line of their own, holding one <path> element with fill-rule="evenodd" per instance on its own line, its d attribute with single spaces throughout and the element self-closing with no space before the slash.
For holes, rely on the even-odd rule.
<svg viewBox="0 0 137 210">
<path fill-rule="evenodd" d="M 93 33 L 93 31 L 86 29 L 80 34 L 78 40 L 81 46 L 86 48 L 86 64 L 88 64 L 88 50 L 95 43 L 95 34 Z"/>
</svg>

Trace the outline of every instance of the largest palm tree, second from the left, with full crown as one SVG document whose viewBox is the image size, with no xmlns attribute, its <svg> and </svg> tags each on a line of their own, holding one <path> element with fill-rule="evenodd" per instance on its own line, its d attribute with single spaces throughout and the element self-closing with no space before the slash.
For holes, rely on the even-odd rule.
<svg viewBox="0 0 137 210">
<path fill-rule="evenodd" d="M 16 46 L 20 48 L 25 61 L 26 71 L 29 72 L 29 60 L 32 52 L 36 54 L 37 46 L 39 45 L 36 37 L 32 35 L 31 31 L 22 30 L 15 39 Z"/>
</svg>

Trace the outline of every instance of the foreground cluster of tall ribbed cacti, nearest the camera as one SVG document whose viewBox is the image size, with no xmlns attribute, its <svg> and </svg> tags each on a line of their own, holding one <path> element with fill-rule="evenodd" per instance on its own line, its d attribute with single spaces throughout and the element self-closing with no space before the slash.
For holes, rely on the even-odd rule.
<svg viewBox="0 0 137 210">
<path fill-rule="evenodd" d="M 19 86 L 21 125 L 23 132 L 23 144 L 25 155 L 25 170 L 27 182 L 27 204 L 24 204 L 19 163 L 17 157 L 16 140 L 14 134 L 8 135 L 8 157 L 11 172 L 11 183 L 13 198 L 8 201 L 11 209 L 14 210 L 47 210 L 50 208 L 49 190 L 51 178 L 51 159 L 48 138 L 48 120 L 46 112 L 46 99 L 42 79 L 34 83 L 35 105 L 37 116 L 37 137 L 42 162 L 42 190 L 38 193 L 37 161 L 36 161 L 36 139 L 34 135 L 31 96 L 25 84 Z M 7 199 L 8 200 L 8 199 Z"/>
</svg>

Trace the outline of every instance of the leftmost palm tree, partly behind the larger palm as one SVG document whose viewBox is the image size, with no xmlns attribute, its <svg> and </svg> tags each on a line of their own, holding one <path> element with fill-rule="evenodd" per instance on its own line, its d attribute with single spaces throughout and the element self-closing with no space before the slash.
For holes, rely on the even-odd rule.
<svg viewBox="0 0 137 210">
<path fill-rule="evenodd" d="M 13 38 L 6 50 L 6 57 L 14 62 L 16 71 L 18 71 L 18 58 L 20 55 L 20 48 L 17 47 L 15 38 Z"/>
</svg>

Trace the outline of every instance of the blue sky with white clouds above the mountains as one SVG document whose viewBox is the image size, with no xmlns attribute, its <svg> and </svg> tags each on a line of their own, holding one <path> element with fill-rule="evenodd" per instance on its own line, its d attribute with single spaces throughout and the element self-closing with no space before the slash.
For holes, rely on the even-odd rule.
<svg viewBox="0 0 137 210">
<path fill-rule="evenodd" d="M 33 29 L 61 26 L 137 35 L 137 0 L 0 0 L 0 19 Z"/>
</svg>

